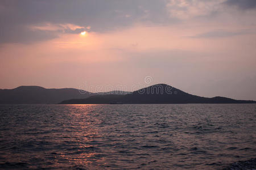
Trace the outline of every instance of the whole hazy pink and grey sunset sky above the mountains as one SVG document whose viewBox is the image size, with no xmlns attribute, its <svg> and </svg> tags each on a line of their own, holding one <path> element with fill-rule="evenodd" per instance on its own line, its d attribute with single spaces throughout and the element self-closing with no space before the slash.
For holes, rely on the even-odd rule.
<svg viewBox="0 0 256 170">
<path fill-rule="evenodd" d="M 0 88 L 256 100 L 255 0 L 2 0 L 0 25 Z"/>
</svg>

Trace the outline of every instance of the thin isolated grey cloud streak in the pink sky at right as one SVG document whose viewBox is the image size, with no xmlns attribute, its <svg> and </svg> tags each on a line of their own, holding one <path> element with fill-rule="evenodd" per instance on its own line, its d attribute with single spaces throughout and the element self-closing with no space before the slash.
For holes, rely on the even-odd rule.
<svg viewBox="0 0 256 170">
<path fill-rule="evenodd" d="M 196 36 L 191 36 L 191 38 L 223 38 L 223 37 L 233 37 L 238 35 L 245 35 L 249 33 L 247 30 L 230 32 L 224 30 L 210 31 L 198 34 Z"/>
</svg>

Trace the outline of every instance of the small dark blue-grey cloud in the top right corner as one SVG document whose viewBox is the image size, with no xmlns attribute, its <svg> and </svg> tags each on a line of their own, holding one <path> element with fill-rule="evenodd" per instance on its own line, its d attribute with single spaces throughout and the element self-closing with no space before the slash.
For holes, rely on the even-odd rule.
<svg viewBox="0 0 256 170">
<path fill-rule="evenodd" d="M 236 6 L 242 10 L 249 10 L 256 8 L 255 0 L 227 0 L 224 2 L 226 5 Z"/>
</svg>

